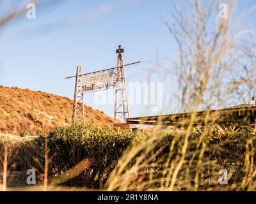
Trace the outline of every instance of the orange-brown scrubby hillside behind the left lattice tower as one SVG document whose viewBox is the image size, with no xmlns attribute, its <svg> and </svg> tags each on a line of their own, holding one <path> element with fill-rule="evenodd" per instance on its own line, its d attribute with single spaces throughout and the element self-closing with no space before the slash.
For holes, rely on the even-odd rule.
<svg viewBox="0 0 256 204">
<path fill-rule="evenodd" d="M 0 86 L 0 132 L 40 135 L 54 126 L 71 124 L 73 101 L 46 92 Z M 111 117 L 85 107 L 86 122 L 110 125 Z"/>
</svg>

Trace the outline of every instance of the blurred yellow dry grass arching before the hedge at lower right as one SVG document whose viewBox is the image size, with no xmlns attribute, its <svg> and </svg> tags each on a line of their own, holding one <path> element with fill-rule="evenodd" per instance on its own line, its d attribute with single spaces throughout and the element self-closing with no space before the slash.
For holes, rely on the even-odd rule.
<svg viewBox="0 0 256 204">
<path fill-rule="evenodd" d="M 107 191 L 255 191 L 255 129 L 169 134 L 146 133 L 132 142 L 109 176 Z M 227 185 L 219 183 L 221 169 L 228 172 Z"/>
</svg>

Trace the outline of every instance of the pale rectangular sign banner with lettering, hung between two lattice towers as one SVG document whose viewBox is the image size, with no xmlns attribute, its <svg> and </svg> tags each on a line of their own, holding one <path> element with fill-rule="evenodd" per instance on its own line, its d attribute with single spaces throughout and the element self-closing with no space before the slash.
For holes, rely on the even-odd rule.
<svg viewBox="0 0 256 204">
<path fill-rule="evenodd" d="M 110 69 L 91 75 L 81 76 L 81 93 L 115 88 L 116 71 L 117 69 Z"/>
</svg>

